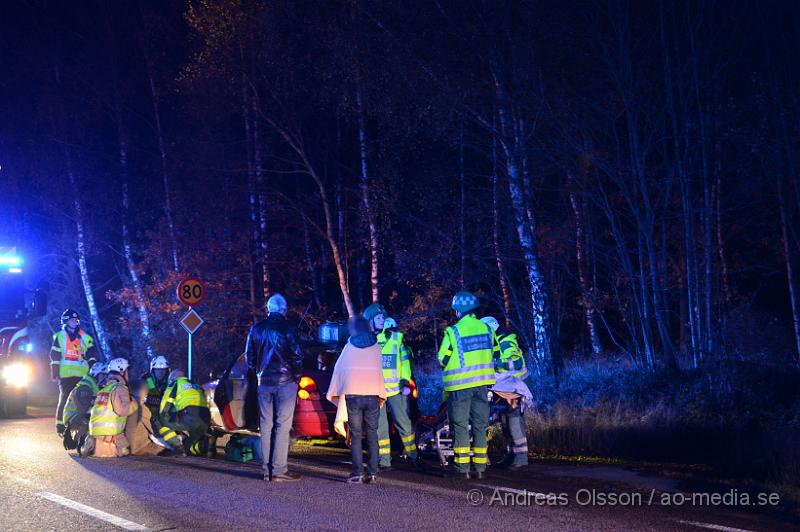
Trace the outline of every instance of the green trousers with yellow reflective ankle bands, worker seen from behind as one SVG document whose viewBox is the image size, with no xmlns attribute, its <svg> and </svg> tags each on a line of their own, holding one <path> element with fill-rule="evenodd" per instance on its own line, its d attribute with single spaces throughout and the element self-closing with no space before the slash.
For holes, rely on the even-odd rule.
<svg viewBox="0 0 800 532">
<path fill-rule="evenodd" d="M 447 394 L 447 416 L 453 434 L 454 462 L 460 473 L 469 472 L 470 450 L 475 471 L 486 471 L 487 435 L 489 428 L 488 386 L 476 386 Z M 472 448 L 469 427 L 472 426 Z"/>
</svg>

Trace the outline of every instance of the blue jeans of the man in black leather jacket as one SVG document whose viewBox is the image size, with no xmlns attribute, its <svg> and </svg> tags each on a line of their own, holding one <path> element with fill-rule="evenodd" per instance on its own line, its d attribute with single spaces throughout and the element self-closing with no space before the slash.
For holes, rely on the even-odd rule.
<svg viewBox="0 0 800 532">
<path fill-rule="evenodd" d="M 297 383 L 258 387 L 261 413 L 261 450 L 264 472 L 283 475 L 288 471 L 289 432 L 292 430 Z"/>
</svg>

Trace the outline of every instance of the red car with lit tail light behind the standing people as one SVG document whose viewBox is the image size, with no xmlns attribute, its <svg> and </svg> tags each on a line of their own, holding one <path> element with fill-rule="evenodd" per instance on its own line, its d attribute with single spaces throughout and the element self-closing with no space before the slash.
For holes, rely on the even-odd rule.
<svg viewBox="0 0 800 532">
<path fill-rule="evenodd" d="M 303 375 L 297 390 L 292 437 L 337 438 L 333 428 L 336 405 L 325 398 L 333 367 L 347 343 L 347 326 L 326 322 L 316 338 L 306 336 L 303 345 Z M 413 383 L 411 395 L 417 397 Z M 233 358 L 219 378 L 203 385 L 211 409 L 212 431 L 217 434 L 257 434 L 259 424 L 257 382 L 248 371 L 244 355 Z M 412 415 L 416 401 L 412 401 Z M 392 427 L 393 431 L 393 427 Z"/>
</svg>

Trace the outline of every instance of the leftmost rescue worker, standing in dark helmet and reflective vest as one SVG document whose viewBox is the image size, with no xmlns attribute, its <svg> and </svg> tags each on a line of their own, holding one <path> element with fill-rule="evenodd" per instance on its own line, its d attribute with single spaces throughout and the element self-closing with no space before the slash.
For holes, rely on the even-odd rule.
<svg viewBox="0 0 800 532">
<path fill-rule="evenodd" d="M 89 372 L 97 360 L 94 338 L 80 328 L 78 313 L 67 309 L 61 314 L 61 330 L 53 335 L 50 348 L 50 374 L 58 382 L 58 407 L 56 408 L 56 432 L 64 434 L 64 404 L 69 392 Z"/>
</svg>

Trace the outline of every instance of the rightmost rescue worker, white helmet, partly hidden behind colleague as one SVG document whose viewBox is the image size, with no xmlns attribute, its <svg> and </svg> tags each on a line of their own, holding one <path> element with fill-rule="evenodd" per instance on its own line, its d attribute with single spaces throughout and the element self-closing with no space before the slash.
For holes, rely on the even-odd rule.
<svg viewBox="0 0 800 532">
<path fill-rule="evenodd" d="M 517 335 L 505 327 L 492 316 L 481 318 L 481 321 L 491 327 L 497 337 L 499 352 L 495 352 L 494 369 L 497 373 L 509 373 L 525 382 L 528 377 L 528 368 L 525 365 L 525 356 L 519 348 Z M 527 385 L 527 383 L 526 383 Z M 528 436 L 525 431 L 525 415 L 522 412 L 522 401 L 510 407 L 500 416 L 503 434 L 508 441 L 508 453 L 500 461 L 501 467 L 512 470 L 525 469 L 528 466 Z"/>
</svg>

